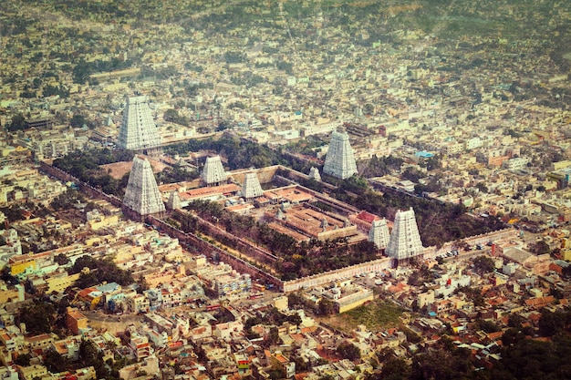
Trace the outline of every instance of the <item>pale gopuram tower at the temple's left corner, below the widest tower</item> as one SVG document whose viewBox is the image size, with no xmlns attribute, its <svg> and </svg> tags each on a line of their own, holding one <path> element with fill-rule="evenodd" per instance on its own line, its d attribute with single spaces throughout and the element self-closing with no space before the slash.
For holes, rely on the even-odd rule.
<svg viewBox="0 0 571 380">
<path fill-rule="evenodd" d="M 126 216 L 136 221 L 143 221 L 147 215 L 164 215 L 161 192 L 152 173 L 151 163 L 144 157 L 133 158 L 122 209 Z"/>
</svg>

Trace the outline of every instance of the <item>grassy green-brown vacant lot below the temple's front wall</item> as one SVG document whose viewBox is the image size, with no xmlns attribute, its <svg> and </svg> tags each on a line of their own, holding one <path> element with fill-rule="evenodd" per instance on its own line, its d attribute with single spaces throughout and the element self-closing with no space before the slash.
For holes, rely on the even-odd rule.
<svg viewBox="0 0 571 380">
<path fill-rule="evenodd" d="M 377 332 L 399 324 L 402 310 L 394 303 L 376 299 L 347 313 L 333 315 L 322 321 L 345 333 L 365 324 L 369 331 Z"/>
</svg>

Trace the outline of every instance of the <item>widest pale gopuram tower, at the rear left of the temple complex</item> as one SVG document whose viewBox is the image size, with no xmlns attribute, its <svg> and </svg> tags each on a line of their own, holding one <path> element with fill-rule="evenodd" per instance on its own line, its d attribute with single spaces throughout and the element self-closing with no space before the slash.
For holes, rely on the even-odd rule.
<svg viewBox="0 0 571 380">
<path fill-rule="evenodd" d="M 152 119 L 146 96 L 127 98 L 117 146 L 149 155 L 160 151 L 161 136 Z"/>
</svg>

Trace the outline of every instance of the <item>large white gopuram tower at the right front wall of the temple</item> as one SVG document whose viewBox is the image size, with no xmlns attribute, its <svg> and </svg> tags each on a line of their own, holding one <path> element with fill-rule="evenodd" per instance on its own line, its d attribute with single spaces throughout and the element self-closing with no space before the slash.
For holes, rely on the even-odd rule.
<svg viewBox="0 0 571 380">
<path fill-rule="evenodd" d="M 422 241 L 416 224 L 414 210 L 397 211 L 395 223 L 390 231 L 387 256 L 396 259 L 397 263 L 422 255 Z"/>
</svg>

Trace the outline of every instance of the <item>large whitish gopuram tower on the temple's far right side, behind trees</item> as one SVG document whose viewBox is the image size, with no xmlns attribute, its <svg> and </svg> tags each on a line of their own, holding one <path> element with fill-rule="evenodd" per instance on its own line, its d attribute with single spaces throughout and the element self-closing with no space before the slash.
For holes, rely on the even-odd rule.
<svg viewBox="0 0 571 380">
<path fill-rule="evenodd" d="M 355 156 L 345 128 L 339 127 L 331 134 L 323 172 L 341 180 L 348 179 L 357 173 Z"/>
</svg>

